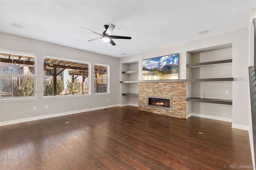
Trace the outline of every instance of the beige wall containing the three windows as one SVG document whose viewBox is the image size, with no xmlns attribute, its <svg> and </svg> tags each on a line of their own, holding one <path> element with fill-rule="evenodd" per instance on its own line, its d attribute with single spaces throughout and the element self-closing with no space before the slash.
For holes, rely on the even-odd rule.
<svg viewBox="0 0 256 170">
<path fill-rule="evenodd" d="M 29 101 L 0 102 L 0 122 L 57 113 L 70 113 L 74 111 L 83 111 L 84 109 L 118 104 L 118 58 L 5 33 L 0 33 L 0 37 L 1 49 L 36 54 L 36 84 L 38 97 L 36 100 Z M 43 97 L 44 55 L 90 62 L 90 85 L 92 95 L 45 99 L 45 97 Z M 110 95 L 94 95 L 94 63 L 110 65 Z M 108 99 L 110 100 L 108 101 Z M 48 109 L 45 109 L 45 105 L 48 105 Z M 33 111 L 34 106 L 36 106 L 36 111 Z"/>
</svg>

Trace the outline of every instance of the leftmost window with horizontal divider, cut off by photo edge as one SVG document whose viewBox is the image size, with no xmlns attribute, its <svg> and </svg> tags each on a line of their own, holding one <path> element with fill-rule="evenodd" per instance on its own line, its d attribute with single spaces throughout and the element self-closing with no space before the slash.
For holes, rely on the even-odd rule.
<svg viewBox="0 0 256 170">
<path fill-rule="evenodd" d="M 0 99 L 36 97 L 36 55 L 0 50 Z"/>
</svg>

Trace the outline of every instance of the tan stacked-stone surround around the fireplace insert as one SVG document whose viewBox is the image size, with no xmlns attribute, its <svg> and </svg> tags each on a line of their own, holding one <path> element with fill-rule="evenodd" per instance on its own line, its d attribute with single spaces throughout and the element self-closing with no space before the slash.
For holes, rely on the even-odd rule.
<svg viewBox="0 0 256 170">
<path fill-rule="evenodd" d="M 148 96 L 172 97 L 172 110 L 148 107 Z M 186 119 L 186 82 L 139 83 L 139 110 Z"/>
</svg>

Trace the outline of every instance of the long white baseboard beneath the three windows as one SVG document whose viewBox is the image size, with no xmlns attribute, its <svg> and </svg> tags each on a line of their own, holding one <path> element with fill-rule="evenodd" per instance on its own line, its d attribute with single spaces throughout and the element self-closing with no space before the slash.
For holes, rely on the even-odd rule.
<svg viewBox="0 0 256 170">
<path fill-rule="evenodd" d="M 72 114 L 76 114 L 76 113 L 95 111 L 95 110 L 107 109 L 110 107 L 118 107 L 118 106 L 120 106 L 120 105 L 108 105 L 108 106 L 94 107 L 94 108 L 89 108 L 89 109 L 82 109 L 82 110 L 69 111 L 69 112 L 63 112 L 63 113 L 55 113 L 55 114 L 51 114 L 51 115 L 43 115 L 43 116 L 37 116 L 37 117 L 28 117 L 28 118 L 24 118 L 24 119 L 16 119 L 16 120 L 12 120 L 12 121 L 4 121 L 4 122 L 0 122 L 0 126 L 12 125 L 12 124 L 16 124 L 16 123 L 23 123 L 23 122 L 29 122 L 29 121 L 36 121 L 36 120 L 40 120 L 40 119 L 47 119 L 47 118 L 52 118 L 52 117 L 65 116 L 65 115 L 72 115 Z"/>
</svg>

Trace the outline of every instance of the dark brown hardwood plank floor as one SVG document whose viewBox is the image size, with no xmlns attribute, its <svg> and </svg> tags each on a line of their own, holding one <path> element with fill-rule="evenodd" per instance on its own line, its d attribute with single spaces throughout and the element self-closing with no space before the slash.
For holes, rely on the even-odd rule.
<svg viewBox="0 0 256 170">
<path fill-rule="evenodd" d="M 252 165 L 246 130 L 132 106 L 0 127 L 1 170 L 221 170 L 233 164 Z"/>
</svg>

